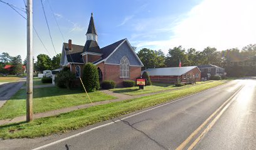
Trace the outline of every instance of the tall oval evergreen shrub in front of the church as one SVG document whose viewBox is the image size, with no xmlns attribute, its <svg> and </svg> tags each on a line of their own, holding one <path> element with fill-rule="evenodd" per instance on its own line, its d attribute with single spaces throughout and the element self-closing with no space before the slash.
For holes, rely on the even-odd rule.
<svg viewBox="0 0 256 150">
<path fill-rule="evenodd" d="M 99 73 L 97 67 L 94 64 L 85 64 L 85 67 L 83 68 L 82 81 L 87 92 L 93 92 L 100 89 Z"/>
</svg>

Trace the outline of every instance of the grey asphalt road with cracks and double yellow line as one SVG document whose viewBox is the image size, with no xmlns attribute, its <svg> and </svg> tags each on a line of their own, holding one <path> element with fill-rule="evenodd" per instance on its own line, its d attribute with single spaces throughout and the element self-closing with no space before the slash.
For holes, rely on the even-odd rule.
<svg viewBox="0 0 256 150">
<path fill-rule="evenodd" d="M 255 149 L 255 85 L 255 79 L 230 81 L 173 103 L 105 121 L 73 133 L 0 141 L 0 146 L 9 146 L 10 149 L 148 150 L 176 149 L 184 145 L 184 149 L 188 149 L 208 129 L 194 149 Z M 201 126 L 206 120 L 208 123 Z M 208 128 L 213 121 L 216 121 L 215 124 Z M 199 127 L 198 133 L 189 139 Z M 186 140 L 188 143 L 184 144 Z"/>
</svg>

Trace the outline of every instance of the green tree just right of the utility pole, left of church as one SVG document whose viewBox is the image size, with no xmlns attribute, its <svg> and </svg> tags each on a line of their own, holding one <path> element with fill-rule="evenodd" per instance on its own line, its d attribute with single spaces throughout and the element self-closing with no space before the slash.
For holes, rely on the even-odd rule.
<svg viewBox="0 0 256 150">
<path fill-rule="evenodd" d="M 46 54 L 39 54 L 37 56 L 36 68 L 38 69 L 38 71 L 52 69 L 51 58 Z"/>
</svg>

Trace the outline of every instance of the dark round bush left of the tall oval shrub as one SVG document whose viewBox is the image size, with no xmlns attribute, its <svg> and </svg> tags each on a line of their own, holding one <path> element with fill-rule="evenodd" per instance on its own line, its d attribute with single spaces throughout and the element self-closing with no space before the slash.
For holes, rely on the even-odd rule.
<svg viewBox="0 0 256 150">
<path fill-rule="evenodd" d="M 67 67 L 63 68 L 60 73 L 55 76 L 55 83 L 60 88 L 72 89 L 75 82 L 75 74 L 70 72 Z"/>
</svg>

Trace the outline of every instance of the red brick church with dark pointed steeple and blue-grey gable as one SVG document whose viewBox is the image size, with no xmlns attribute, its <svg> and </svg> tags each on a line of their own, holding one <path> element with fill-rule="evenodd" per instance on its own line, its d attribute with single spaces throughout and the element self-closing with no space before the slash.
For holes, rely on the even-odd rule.
<svg viewBox="0 0 256 150">
<path fill-rule="evenodd" d="M 83 66 L 87 63 L 97 66 L 100 82 L 113 80 L 117 86 L 122 86 L 122 81 L 135 81 L 141 76 L 143 64 L 127 39 L 99 47 L 93 15 L 90 17 L 86 36 L 85 46 L 72 44 L 71 39 L 68 43 L 63 43 L 60 65 L 68 66 L 77 78 L 82 76 Z"/>
</svg>

